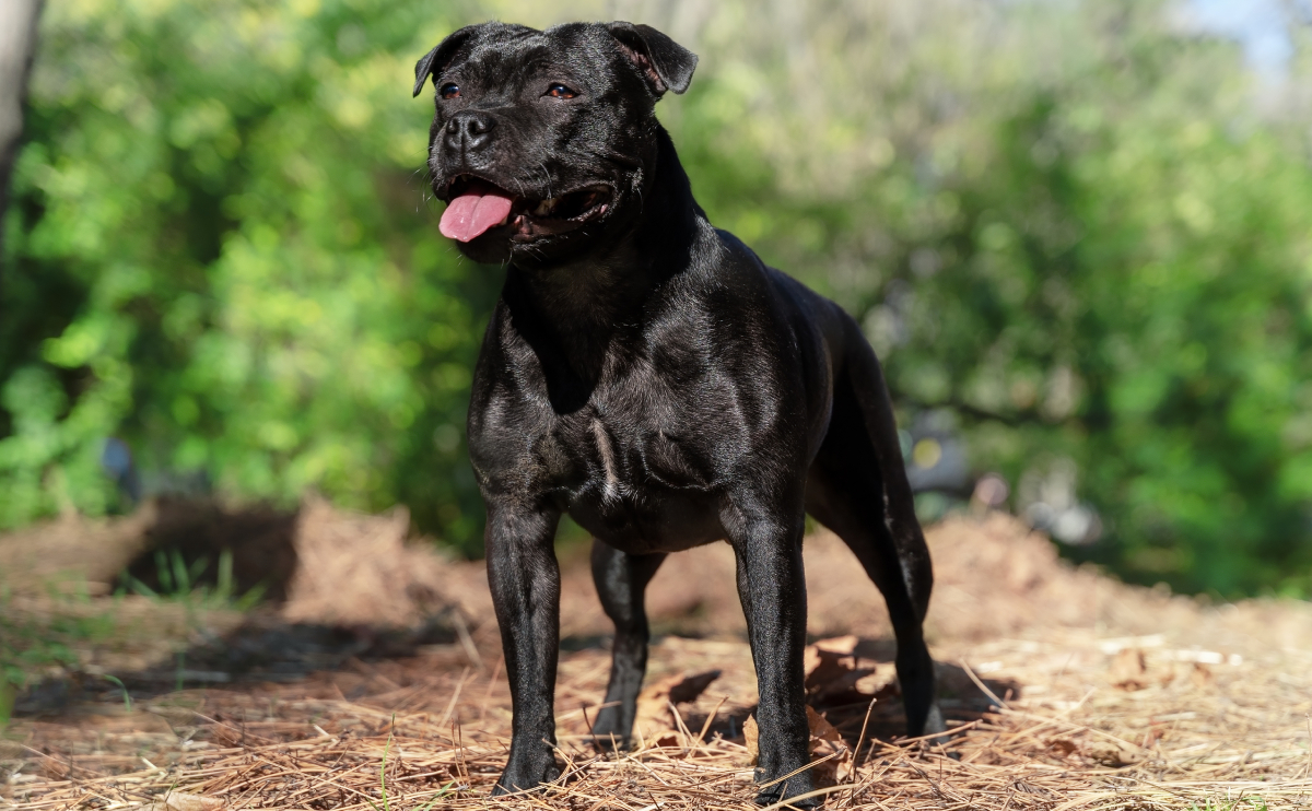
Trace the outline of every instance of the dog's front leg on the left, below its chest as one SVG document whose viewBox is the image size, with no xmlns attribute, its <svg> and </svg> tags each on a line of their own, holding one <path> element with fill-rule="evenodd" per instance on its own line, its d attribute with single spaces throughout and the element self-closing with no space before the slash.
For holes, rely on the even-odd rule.
<svg viewBox="0 0 1312 811">
<path fill-rule="evenodd" d="M 533 789 L 560 776 L 556 765 L 556 656 L 560 647 L 560 513 L 509 499 L 488 501 L 488 585 L 510 682 L 510 760 L 492 794 Z"/>
</svg>

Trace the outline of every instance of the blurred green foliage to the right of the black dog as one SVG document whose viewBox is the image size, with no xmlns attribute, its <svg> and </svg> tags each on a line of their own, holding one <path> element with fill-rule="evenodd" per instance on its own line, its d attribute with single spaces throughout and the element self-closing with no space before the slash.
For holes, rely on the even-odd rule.
<svg viewBox="0 0 1312 811">
<path fill-rule="evenodd" d="M 694 83 L 676 134 L 712 219 L 861 318 L 903 415 L 950 415 L 976 470 L 1073 463 L 1106 529 L 1075 556 L 1312 594 L 1308 118 L 1258 114 L 1239 49 L 1164 4 L 934 5 L 900 35 L 816 12 L 808 51 Z M 750 59 L 743 30 L 710 52 Z"/>
</svg>

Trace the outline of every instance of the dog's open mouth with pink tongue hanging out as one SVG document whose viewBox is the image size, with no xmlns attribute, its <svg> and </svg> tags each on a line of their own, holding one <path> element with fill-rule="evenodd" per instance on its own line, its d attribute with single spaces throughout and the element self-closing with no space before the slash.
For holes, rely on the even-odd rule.
<svg viewBox="0 0 1312 811">
<path fill-rule="evenodd" d="M 446 189 L 446 211 L 438 226 L 443 236 L 467 243 L 488 231 L 530 241 L 564 234 L 598 219 L 610 209 L 605 185 L 584 186 L 555 197 L 514 194 L 483 178 L 461 175 Z"/>
</svg>

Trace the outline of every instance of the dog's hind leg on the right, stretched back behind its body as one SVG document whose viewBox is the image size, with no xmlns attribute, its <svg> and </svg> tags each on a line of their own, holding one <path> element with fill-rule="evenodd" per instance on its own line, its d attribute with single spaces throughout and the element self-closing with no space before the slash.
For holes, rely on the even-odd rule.
<svg viewBox="0 0 1312 811">
<path fill-rule="evenodd" d="M 922 622 L 933 570 L 903 467 L 892 404 L 874 350 L 845 320 L 829 430 L 807 478 L 807 512 L 855 552 L 888 605 L 907 732 L 943 731 Z"/>
</svg>

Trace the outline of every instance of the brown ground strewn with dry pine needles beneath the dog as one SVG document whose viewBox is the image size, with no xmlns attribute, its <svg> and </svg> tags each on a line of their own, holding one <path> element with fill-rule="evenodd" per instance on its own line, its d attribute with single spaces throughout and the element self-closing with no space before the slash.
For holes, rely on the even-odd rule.
<svg viewBox="0 0 1312 811">
<path fill-rule="evenodd" d="M 407 526 L 400 512 L 320 501 L 291 516 L 154 505 L 0 538 L 0 610 L 113 619 L 76 664 L 18 697 L 0 739 L 0 807 L 754 807 L 756 685 L 726 546 L 674 555 L 653 580 L 639 740 L 619 757 L 586 735 L 609 625 L 586 550 L 563 551 L 564 774 L 491 801 L 510 702 L 484 570 L 407 543 Z M 59 555 L 30 554 L 42 531 Z M 1001 513 L 928 535 L 946 741 L 900 736 L 882 600 L 837 538 L 807 539 L 808 703 L 828 807 L 1312 807 L 1312 606 L 1127 587 L 1069 567 Z M 243 614 L 109 596 L 125 568 L 150 576 L 160 547 L 189 560 L 232 549 L 240 588 L 265 572 L 277 598 Z"/>
</svg>

